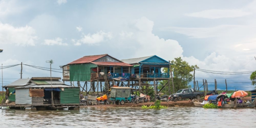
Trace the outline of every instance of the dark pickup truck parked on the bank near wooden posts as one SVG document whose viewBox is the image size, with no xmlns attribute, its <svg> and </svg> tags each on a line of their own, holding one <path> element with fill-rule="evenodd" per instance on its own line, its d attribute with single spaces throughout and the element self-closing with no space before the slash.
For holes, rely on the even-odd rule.
<svg viewBox="0 0 256 128">
<path fill-rule="evenodd" d="M 180 89 L 178 90 L 175 94 L 178 96 L 178 100 L 181 99 L 200 99 L 201 96 L 204 96 L 204 92 L 196 92 L 193 88 L 185 88 L 185 89 Z"/>
</svg>

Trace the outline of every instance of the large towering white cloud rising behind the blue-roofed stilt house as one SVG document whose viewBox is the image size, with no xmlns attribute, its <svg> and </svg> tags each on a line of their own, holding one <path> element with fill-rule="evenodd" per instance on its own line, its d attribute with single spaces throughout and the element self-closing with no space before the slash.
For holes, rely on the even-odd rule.
<svg viewBox="0 0 256 128">
<path fill-rule="evenodd" d="M 116 47 L 129 49 L 134 58 L 157 55 L 172 60 L 182 56 L 183 50 L 178 41 L 165 40 L 154 35 L 152 33 L 154 22 L 146 17 L 131 21 L 127 26 L 129 26 L 127 30 L 122 28 L 117 41 L 114 42 L 118 42 L 115 44 Z"/>
</svg>

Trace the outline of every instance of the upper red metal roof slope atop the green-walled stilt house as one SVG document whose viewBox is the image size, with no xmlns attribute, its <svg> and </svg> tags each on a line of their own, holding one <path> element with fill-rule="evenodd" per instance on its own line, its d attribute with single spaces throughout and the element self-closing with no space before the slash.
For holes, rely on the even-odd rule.
<svg viewBox="0 0 256 128">
<path fill-rule="evenodd" d="M 73 62 L 68 63 L 68 65 L 70 65 L 70 64 L 79 64 L 79 63 L 89 63 L 89 62 L 92 62 L 94 60 L 97 60 L 97 59 L 99 59 L 101 57 L 104 57 L 104 56 L 107 56 L 107 55 L 108 54 L 84 56 L 84 57 L 82 57 L 80 59 L 77 59 L 77 60 L 75 60 Z"/>
</svg>

